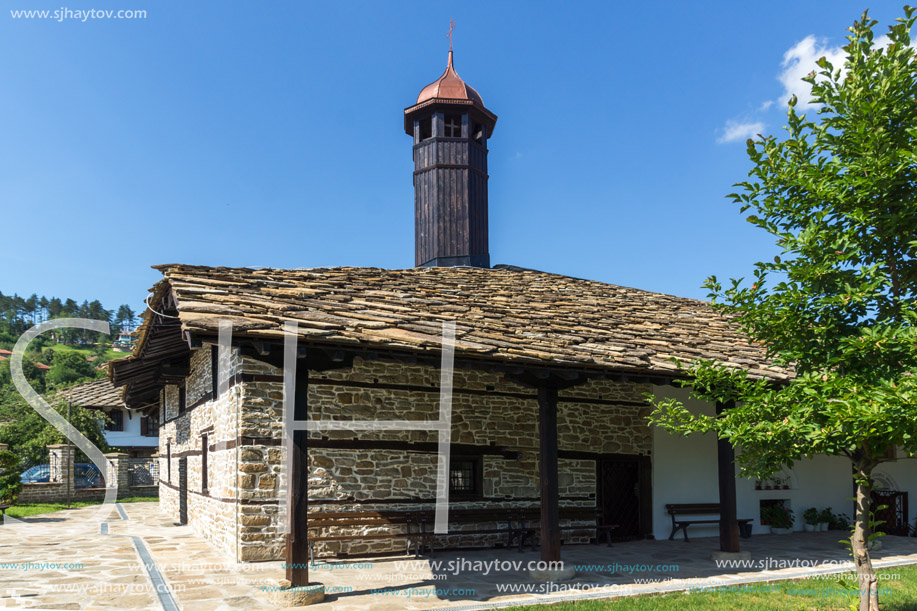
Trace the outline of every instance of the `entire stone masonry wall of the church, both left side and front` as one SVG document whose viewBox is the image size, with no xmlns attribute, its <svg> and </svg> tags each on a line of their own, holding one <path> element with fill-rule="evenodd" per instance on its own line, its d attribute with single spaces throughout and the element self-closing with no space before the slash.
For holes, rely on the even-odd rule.
<svg viewBox="0 0 917 611">
<path fill-rule="evenodd" d="M 163 393 L 165 414 L 174 420 L 160 433 L 160 457 L 166 460 L 171 440 L 173 486 L 161 486 L 163 510 L 178 516 L 177 457 L 188 453 L 188 517 L 197 532 L 243 561 L 283 557 L 285 537 L 277 515 L 281 494 L 283 382 L 279 368 L 233 352 L 236 379 L 228 396 L 210 400 L 178 415 L 178 389 Z M 357 358 L 353 369 L 310 372 L 309 417 L 313 420 L 437 420 L 438 368 Z M 209 392 L 210 355 L 195 352 L 187 381 L 187 404 Z M 452 442 L 512 450 L 518 457 L 485 454 L 481 494 L 453 499 L 455 508 L 538 507 L 538 406 L 533 389 L 498 374 L 456 369 Z M 648 387 L 593 381 L 562 391 L 558 404 L 558 441 L 562 450 L 649 455 L 650 430 L 639 406 Z M 238 409 L 238 430 L 236 410 Z M 208 494 L 200 493 L 200 431 L 211 428 L 208 444 Z M 404 448 L 343 449 L 312 447 L 309 451 L 310 511 L 432 509 L 436 487 L 436 455 L 411 444 L 435 442 L 426 431 L 312 431 L 316 440 L 395 441 Z M 234 449 L 219 444 L 241 439 Z M 234 444 L 231 444 L 234 445 Z M 429 446 L 425 446 L 429 447 Z M 236 467 L 236 460 L 238 466 Z M 161 481 L 167 479 L 161 464 Z M 561 507 L 594 507 L 594 460 L 561 459 Z M 226 502 L 231 501 L 231 502 Z M 236 502 L 238 501 L 238 505 Z M 236 512 L 238 508 L 238 512 Z M 238 526 L 237 526 L 238 525 Z M 470 529 L 473 525 L 464 528 Z M 460 527 L 459 529 L 461 529 Z M 346 532 L 346 531 L 341 531 Z M 312 533 L 315 534 L 315 533 Z M 353 534 L 357 534 L 354 531 Z M 445 545 L 491 546 L 498 535 L 450 535 Z M 584 542 L 580 534 L 568 542 Z M 238 546 L 238 550 L 236 549 Z M 403 540 L 319 542 L 316 552 L 364 554 L 403 550 Z"/>
</svg>

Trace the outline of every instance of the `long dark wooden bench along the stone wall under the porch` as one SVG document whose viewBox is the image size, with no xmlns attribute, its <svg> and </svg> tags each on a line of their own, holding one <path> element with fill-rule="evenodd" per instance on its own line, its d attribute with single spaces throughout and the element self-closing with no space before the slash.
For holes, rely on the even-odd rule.
<svg viewBox="0 0 917 611">
<path fill-rule="evenodd" d="M 611 546 L 611 532 L 617 524 L 602 524 L 599 513 L 594 508 L 571 507 L 560 510 L 561 520 L 591 521 L 593 525 L 562 526 L 564 531 L 595 530 L 595 543 L 604 537 Z M 435 512 L 420 511 L 350 511 L 350 512 L 314 512 L 309 514 L 309 530 L 319 528 L 352 528 L 352 527 L 392 527 L 403 526 L 402 532 L 327 534 L 309 536 L 310 560 L 315 558 L 315 543 L 321 541 L 359 541 L 366 539 L 404 539 L 405 552 L 408 555 L 420 556 L 425 551 L 433 555 L 434 541 L 437 536 L 456 535 L 505 535 L 506 547 L 518 546 L 519 551 L 526 544 L 537 548 L 536 538 L 541 530 L 541 512 L 538 508 L 494 508 L 494 509 L 450 509 L 449 532 L 438 535 L 433 532 Z M 453 525 L 477 524 L 478 528 L 453 530 Z"/>
</svg>

